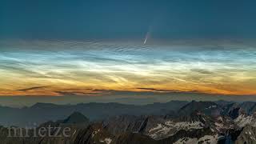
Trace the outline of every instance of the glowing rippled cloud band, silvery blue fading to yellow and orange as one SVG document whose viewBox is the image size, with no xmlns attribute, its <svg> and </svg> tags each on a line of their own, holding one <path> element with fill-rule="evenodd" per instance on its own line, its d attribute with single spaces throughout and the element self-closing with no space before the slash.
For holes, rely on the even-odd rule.
<svg viewBox="0 0 256 144">
<path fill-rule="evenodd" d="M 97 90 L 256 94 L 254 45 L 155 43 L 5 42 L 0 94 L 97 95 Z"/>
</svg>

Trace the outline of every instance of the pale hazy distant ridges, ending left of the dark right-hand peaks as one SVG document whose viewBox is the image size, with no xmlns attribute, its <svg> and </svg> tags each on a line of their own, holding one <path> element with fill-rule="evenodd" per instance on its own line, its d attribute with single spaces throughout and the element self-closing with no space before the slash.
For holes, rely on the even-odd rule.
<svg viewBox="0 0 256 144">
<path fill-rule="evenodd" d="M 36 103 L 24 108 L 0 106 L 0 125 L 3 126 L 34 126 L 47 121 L 63 119 L 75 111 L 86 115 L 90 120 L 101 120 L 111 116 L 129 115 L 164 115 L 172 110 L 178 110 L 188 102 L 171 101 L 154 103 L 145 106 L 126 105 L 120 103 L 80 103 L 77 105 L 55 105 L 51 103 Z"/>
</svg>

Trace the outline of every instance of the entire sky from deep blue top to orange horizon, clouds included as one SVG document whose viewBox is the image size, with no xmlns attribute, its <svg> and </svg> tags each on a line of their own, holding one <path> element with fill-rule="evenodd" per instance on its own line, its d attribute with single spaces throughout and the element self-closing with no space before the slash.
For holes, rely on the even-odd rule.
<svg viewBox="0 0 256 144">
<path fill-rule="evenodd" d="M 2 0 L 0 95 L 254 98 L 255 4 Z"/>
</svg>

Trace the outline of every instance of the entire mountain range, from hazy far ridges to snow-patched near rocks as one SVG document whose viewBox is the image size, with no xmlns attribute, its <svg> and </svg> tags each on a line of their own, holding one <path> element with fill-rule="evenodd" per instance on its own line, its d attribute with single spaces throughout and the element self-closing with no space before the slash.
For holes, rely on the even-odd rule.
<svg viewBox="0 0 256 144">
<path fill-rule="evenodd" d="M 0 114 L 3 114 L 4 109 L 10 110 L 9 112 L 16 110 L 1 107 Z M 19 115 L 27 114 L 27 119 L 41 122 L 37 129 L 44 126 L 60 126 L 64 129 L 69 126 L 71 136 L 10 138 L 7 136 L 7 127 L 19 120 L 16 119 L 15 122 L 12 119 L 0 130 L 0 138 L 4 144 L 256 143 L 256 102 L 172 101 L 145 106 L 118 103 L 60 106 L 37 103 L 18 110 Z M 7 113 L 6 116 L 14 117 Z M 26 117 L 20 118 L 23 120 L 18 123 L 20 127 L 25 126 Z"/>
</svg>

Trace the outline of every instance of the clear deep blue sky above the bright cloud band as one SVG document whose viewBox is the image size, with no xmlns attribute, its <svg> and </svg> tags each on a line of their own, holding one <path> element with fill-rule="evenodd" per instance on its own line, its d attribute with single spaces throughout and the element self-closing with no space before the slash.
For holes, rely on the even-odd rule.
<svg viewBox="0 0 256 144">
<path fill-rule="evenodd" d="M 2 0 L 0 38 L 255 38 L 253 0 Z"/>
</svg>

